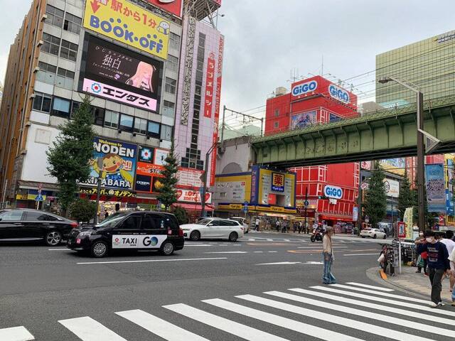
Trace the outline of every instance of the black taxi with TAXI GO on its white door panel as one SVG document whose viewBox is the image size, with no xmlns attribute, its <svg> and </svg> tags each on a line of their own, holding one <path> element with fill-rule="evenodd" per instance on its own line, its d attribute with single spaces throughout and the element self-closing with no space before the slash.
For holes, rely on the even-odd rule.
<svg viewBox="0 0 455 341">
<path fill-rule="evenodd" d="M 95 226 L 73 229 L 68 248 L 104 257 L 112 250 L 159 250 L 170 256 L 183 249 L 183 230 L 170 213 L 117 212 Z"/>
</svg>

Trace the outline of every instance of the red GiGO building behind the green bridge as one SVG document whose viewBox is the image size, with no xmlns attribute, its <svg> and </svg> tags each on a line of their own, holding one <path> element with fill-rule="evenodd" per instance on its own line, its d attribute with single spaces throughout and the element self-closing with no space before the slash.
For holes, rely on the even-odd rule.
<svg viewBox="0 0 455 341">
<path fill-rule="evenodd" d="M 294 82 L 291 92 L 267 99 L 264 134 L 301 129 L 354 117 L 357 96 L 321 76 Z M 307 206 L 310 222 L 353 223 L 359 164 L 343 163 L 290 169 L 296 173 L 296 206 Z M 301 211 L 301 210 L 300 210 Z"/>
</svg>

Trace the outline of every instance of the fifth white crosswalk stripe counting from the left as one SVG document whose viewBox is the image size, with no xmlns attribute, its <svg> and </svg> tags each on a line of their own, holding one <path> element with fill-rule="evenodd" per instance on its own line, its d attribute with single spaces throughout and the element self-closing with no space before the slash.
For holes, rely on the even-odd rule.
<svg viewBox="0 0 455 341">
<path fill-rule="evenodd" d="M 265 313 L 264 311 L 245 307 L 245 305 L 240 305 L 236 303 L 231 303 L 228 301 L 220 300 L 219 298 L 215 298 L 213 300 L 204 300 L 203 302 L 215 305 L 215 307 L 223 308 L 226 310 L 233 311 L 235 313 L 239 313 L 242 315 L 246 315 L 250 318 L 256 318 L 257 320 L 261 320 L 263 322 L 271 323 L 272 325 L 278 325 L 282 328 L 287 328 L 289 330 L 294 330 L 296 332 L 300 332 L 302 334 L 310 335 L 313 337 L 317 337 L 321 340 L 337 340 L 337 341 L 353 341 L 353 340 L 360 340 L 355 337 L 350 337 L 348 335 L 341 334 L 339 332 L 332 332 L 331 330 L 326 330 L 323 328 L 319 328 L 316 325 L 308 325 L 306 323 L 302 323 L 296 320 L 291 320 L 289 318 L 283 318 L 279 315 L 274 315 L 271 313 Z M 313 318 L 313 315 L 309 315 Z"/>
</svg>

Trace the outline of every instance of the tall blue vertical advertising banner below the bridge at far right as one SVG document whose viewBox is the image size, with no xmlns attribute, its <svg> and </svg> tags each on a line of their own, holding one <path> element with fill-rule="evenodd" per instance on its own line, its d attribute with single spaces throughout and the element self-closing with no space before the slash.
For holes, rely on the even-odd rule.
<svg viewBox="0 0 455 341">
<path fill-rule="evenodd" d="M 446 209 L 446 188 L 444 185 L 444 165 L 425 165 L 427 180 L 428 212 L 444 212 Z"/>
</svg>

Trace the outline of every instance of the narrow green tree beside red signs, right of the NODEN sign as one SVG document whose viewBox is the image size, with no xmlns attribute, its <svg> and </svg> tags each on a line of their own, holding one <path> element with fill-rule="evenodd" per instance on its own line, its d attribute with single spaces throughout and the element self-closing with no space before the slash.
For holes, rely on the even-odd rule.
<svg viewBox="0 0 455 341">
<path fill-rule="evenodd" d="M 177 201 L 177 167 L 178 162 L 174 155 L 172 143 L 171 150 L 164 159 L 164 171 L 161 172 L 164 177 L 160 180 L 161 186 L 157 188 L 159 191 L 158 200 L 166 207 L 166 211 L 168 211 L 171 205 Z"/>
</svg>

